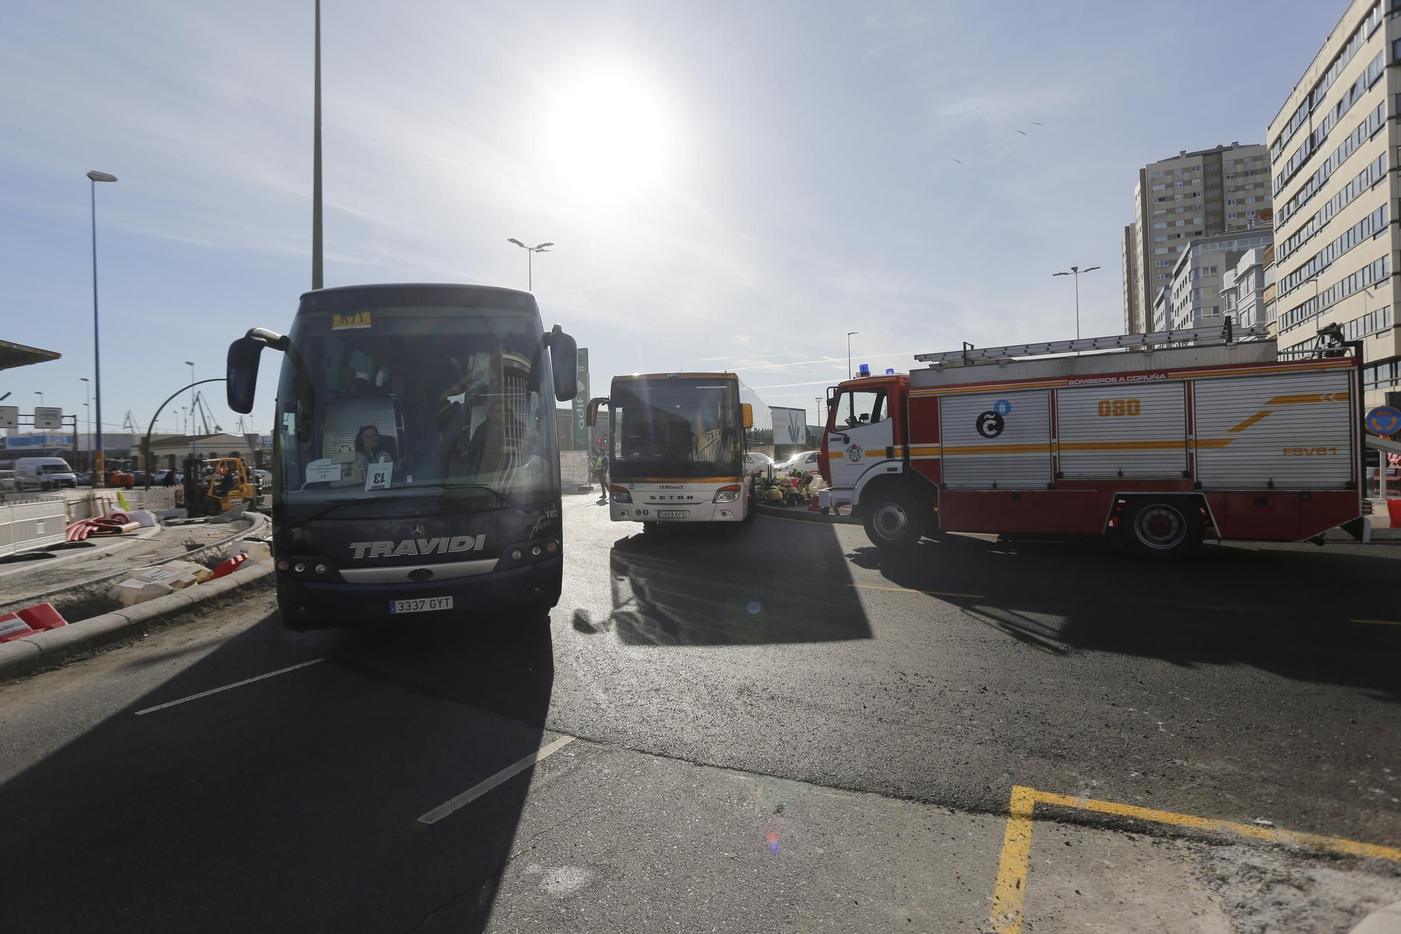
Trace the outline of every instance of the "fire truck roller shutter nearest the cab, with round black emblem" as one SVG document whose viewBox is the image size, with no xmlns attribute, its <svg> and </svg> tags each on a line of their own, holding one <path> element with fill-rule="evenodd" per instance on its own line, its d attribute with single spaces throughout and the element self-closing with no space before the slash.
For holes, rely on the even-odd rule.
<svg viewBox="0 0 1401 934">
<path fill-rule="evenodd" d="M 950 489 L 1045 489 L 1051 482 L 1049 390 L 943 395 L 939 428 Z"/>
</svg>

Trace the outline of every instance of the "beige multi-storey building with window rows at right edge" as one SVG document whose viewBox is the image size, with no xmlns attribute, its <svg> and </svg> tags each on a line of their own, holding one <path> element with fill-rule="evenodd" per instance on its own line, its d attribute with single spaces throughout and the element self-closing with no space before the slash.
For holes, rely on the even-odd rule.
<svg viewBox="0 0 1401 934">
<path fill-rule="evenodd" d="M 1401 128 L 1395 0 L 1353 0 L 1269 123 L 1275 313 L 1281 351 L 1342 324 L 1363 341 L 1363 402 L 1401 387 L 1394 275 Z M 1391 67 L 1387 67 L 1391 65 Z"/>
</svg>

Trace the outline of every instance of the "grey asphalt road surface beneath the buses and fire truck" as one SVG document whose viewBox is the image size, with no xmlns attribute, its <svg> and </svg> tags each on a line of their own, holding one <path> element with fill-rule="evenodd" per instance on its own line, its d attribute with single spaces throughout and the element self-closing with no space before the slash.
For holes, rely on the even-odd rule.
<svg viewBox="0 0 1401 934">
<path fill-rule="evenodd" d="M 0 930 L 1346 931 L 1401 899 L 1401 546 L 565 519 L 549 632 L 297 635 L 263 593 L 0 686 Z"/>
</svg>

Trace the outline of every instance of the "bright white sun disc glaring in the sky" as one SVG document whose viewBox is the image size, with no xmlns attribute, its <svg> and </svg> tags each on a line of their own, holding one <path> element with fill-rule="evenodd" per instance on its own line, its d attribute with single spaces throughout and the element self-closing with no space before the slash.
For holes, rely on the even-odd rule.
<svg viewBox="0 0 1401 934">
<path fill-rule="evenodd" d="M 623 201 L 661 178 L 668 156 L 665 109 L 637 76 L 594 72 L 556 91 L 542 153 L 565 194 Z"/>
</svg>

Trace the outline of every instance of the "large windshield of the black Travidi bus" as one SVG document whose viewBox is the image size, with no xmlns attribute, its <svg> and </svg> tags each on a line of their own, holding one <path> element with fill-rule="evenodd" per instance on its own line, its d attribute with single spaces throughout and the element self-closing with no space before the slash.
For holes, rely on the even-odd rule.
<svg viewBox="0 0 1401 934">
<path fill-rule="evenodd" d="M 539 502 L 559 487 L 551 395 L 532 303 L 304 309 L 277 393 L 276 496 Z"/>
</svg>

